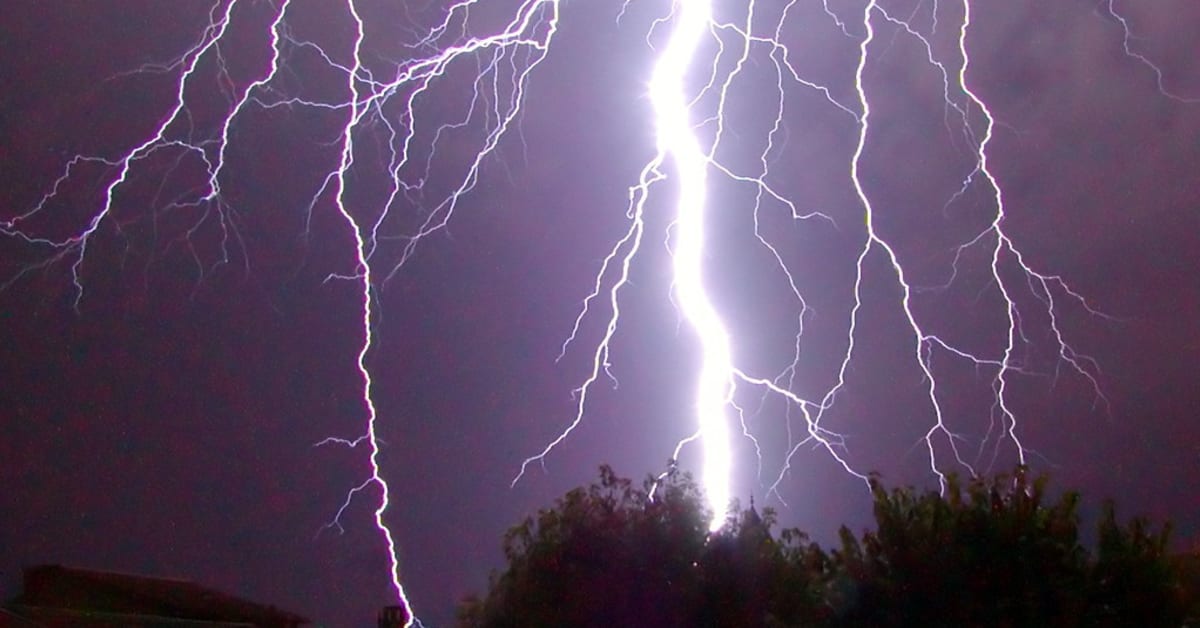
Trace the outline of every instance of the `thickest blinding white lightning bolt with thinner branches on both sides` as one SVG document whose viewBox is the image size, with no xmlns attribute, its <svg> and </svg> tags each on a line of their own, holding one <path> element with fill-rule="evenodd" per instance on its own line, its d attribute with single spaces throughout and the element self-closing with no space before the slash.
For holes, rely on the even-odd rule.
<svg viewBox="0 0 1200 628">
<path fill-rule="evenodd" d="M 558 444 L 566 439 L 569 435 L 580 425 L 583 419 L 590 389 L 593 384 L 600 379 L 601 375 L 607 375 L 610 378 L 616 381 L 610 371 L 610 346 L 620 317 L 618 297 L 620 289 L 628 282 L 630 264 L 641 247 L 644 231 L 646 203 L 650 197 L 650 187 L 670 179 L 667 172 L 665 171 L 666 162 L 668 160 L 674 169 L 674 179 L 677 181 L 673 187 L 676 193 L 679 196 L 676 204 L 673 221 L 674 239 L 672 241 L 674 294 L 677 298 L 677 305 L 683 317 L 691 324 L 701 347 L 701 364 L 698 366 L 695 400 L 697 430 L 695 433 L 677 443 L 672 453 L 672 460 L 678 459 L 684 445 L 691 442 L 701 443 L 703 449 L 703 471 L 701 482 L 708 498 L 709 509 L 713 513 L 713 518 L 710 520 L 712 530 L 718 530 L 724 524 L 731 497 L 730 473 L 733 457 L 733 445 L 731 442 L 732 430 L 728 425 L 731 414 L 737 414 L 740 419 L 742 435 L 752 441 L 756 451 L 760 451 L 761 468 L 760 443 L 754 437 L 752 431 L 745 421 L 745 413 L 743 408 L 739 407 L 734 400 L 739 383 L 761 388 L 766 391 L 766 394 L 778 395 L 785 399 L 788 403 L 791 403 L 788 411 L 791 411 L 792 407 L 796 407 L 804 418 L 805 436 L 798 441 L 792 439 L 792 442 L 788 443 L 787 454 L 780 473 L 768 489 L 770 494 L 779 496 L 778 488 L 784 482 L 788 469 L 791 468 L 792 457 L 806 444 L 816 444 L 817 447 L 823 448 L 848 473 L 866 482 L 866 476 L 857 471 L 845 455 L 845 437 L 826 427 L 822 424 L 822 419 L 824 418 L 824 414 L 834 407 L 834 401 L 839 393 L 846 388 L 847 371 L 856 354 L 859 312 L 863 307 L 864 268 L 865 263 L 872 255 L 882 255 L 886 258 L 894 273 L 895 283 L 901 292 L 899 306 L 904 313 L 905 321 L 907 322 L 908 333 L 913 339 L 913 361 L 918 365 L 924 376 L 923 381 L 926 387 L 926 396 L 934 415 L 934 421 L 925 432 L 923 443 L 928 451 L 930 469 L 937 477 L 940 484 L 944 485 L 946 482 L 944 466 L 940 462 L 940 456 L 937 455 L 937 443 L 940 441 L 946 443 L 950 450 L 954 462 L 966 468 L 972 474 L 976 474 L 976 468 L 968 457 L 960 451 L 959 441 L 961 441 L 962 437 L 952 431 L 948 419 L 942 409 L 942 401 L 937 389 L 938 378 L 935 376 L 932 366 L 935 352 L 944 353 L 954 359 L 966 360 L 976 367 L 988 369 L 994 372 L 992 390 L 995 396 L 992 425 L 996 433 L 989 432 L 989 435 L 984 437 L 980 449 L 985 447 L 988 441 L 992 441 L 992 459 L 995 459 L 1000 453 L 1000 442 L 1003 436 L 1014 443 L 1020 462 L 1024 463 L 1026 461 L 1027 450 L 1019 438 L 1016 431 L 1016 414 L 1012 411 L 1009 401 L 1010 379 L 1015 375 L 1026 373 L 1026 370 L 1021 366 L 1016 355 L 1019 348 L 1018 345 L 1024 340 L 1024 333 L 1020 328 L 1020 310 L 1013 295 L 1013 292 L 1018 289 L 1018 287 L 1013 286 L 1013 280 L 1006 277 L 1003 274 L 1006 262 L 1015 264 L 1020 275 L 1024 277 L 1024 281 L 1028 283 L 1030 288 L 1034 292 L 1034 295 L 1044 304 L 1045 312 L 1050 319 L 1050 328 L 1057 342 L 1057 353 L 1061 359 L 1075 372 L 1087 379 L 1087 382 L 1092 385 L 1097 399 L 1106 403 L 1106 399 L 1100 391 L 1099 382 L 1097 379 L 1098 365 L 1087 355 L 1076 353 L 1067 342 L 1061 328 L 1058 327 L 1058 311 L 1061 305 L 1056 304 L 1056 299 L 1067 298 L 1081 304 L 1092 315 L 1104 315 L 1087 304 L 1084 297 L 1073 291 L 1062 280 L 1062 277 L 1039 273 L 1028 265 L 1022 258 L 1020 250 L 1014 245 L 1013 240 L 1004 231 L 1003 222 L 1006 217 L 1006 209 L 1002 190 L 988 163 L 988 145 L 992 139 L 996 120 L 984 101 L 979 98 L 967 84 L 967 70 L 970 66 L 970 55 L 967 52 L 967 31 L 971 25 L 970 2 L 964 1 L 961 4 L 962 18 L 958 36 L 961 61 L 956 74 L 952 72 L 944 62 L 936 58 L 932 43 L 925 35 L 910 24 L 911 18 L 896 18 L 884 10 L 878 2 L 866 2 L 859 14 L 858 22 L 863 29 L 864 36 L 859 38 L 858 46 L 859 55 L 854 71 L 854 92 L 858 98 L 857 103 L 853 106 L 839 102 L 833 97 L 829 88 L 803 78 L 802 73 L 798 72 L 791 64 L 790 50 L 782 41 L 782 34 L 785 32 L 790 13 L 796 5 L 796 1 L 787 2 L 782 11 L 779 12 L 778 19 L 769 29 L 766 29 L 764 32 L 758 32 L 754 28 L 756 23 L 756 12 L 758 11 L 757 2 L 755 1 L 750 1 L 746 5 L 744 19 L 738 23 L 733 23 L 716 20 L 713 16 L 713 5 L 707 0 L 678 0 L 673 4 L 671 14 L 662 18 L 662 22 L 656 23 L 656 25 L 662 23 L 671 24 L 667 43 L 659 52 L 653 77 L 649 83 L 650 102 L 653 106 L 655 128 L 658 132 L 658 152 L 642 169 L 642 177 L 637 185 L 630 190 L 629 215 L 632 219 L 631 227 L 629 232 L 626 232 L 625 237 L 617 243 L 617 245 L 610 251 L 610 255 L 605 258 L 604 264 L 596 275 L 593 292 L 584 300 L 583 307 L 575 321 L 571 334 L 563 345 L 559 358 L 565 354 L 569 345 L 575 340 L 576 334 L 580 330 L 581 322 L 589 313 L 592 301 L 598 299 L 604 289 L 604 277 L 608 274 L 610 267 L 616 264 L 619 265 L 620 270 L 607 292 L 612 316 L 605 327 L 605 335 L 593 354 L 592 372 L 583 384 L 576 390 L 577 406 L 574 420 L 541 451 L 522 462 L 520 472 L 512 480 L 514 485 L 526 473 L 530 463 L 544 462 L 545 457 Z M 828 4 L 823 5 L 823 11 L 835 22 L 838 28 L 841 29 L 844 34 L 852 36 L 846 30 L 847 24 L 851 23 L 850 20 L 844 19 L 840 14 L 833 11 Z M 868 97 L 864 71 L 870 59 L 869 50 L 876 38 L 877 20 L 884 20 L 899 26 L 904 34 L 917 40 L 926 50 L 928 62 L 930 66 L 935 67 L 942 77 L 943 96 L 947 110 L 956 113 L 958 119 L 960 120 L 960 132 L 965 137 L 966 142 L 972 146 L 976 163 L 973 171 L 965 178 L 959 195 L 955 196 L 960 196 L 972 185 L 976 185 L 977 179 L 980 178 L 992 191 L 996 208 L 994 220 L 974 238 L 958 247 L 955 261 L 953 263 L 953 270 L 954 275 L 956 275 L 959 261 L 968 250 L 980 246 L 991 246 L 990 273 L 995 281 L 995 286 L 1006 304 L 1008 319 L 1006 345 L 995 355 L 982 355 L 965 348 L 960 348 L 952 341 L 928 330 L 928 324 L 922 323 L 913 307 L 914 293 L 918 292 L 918 289 L 906 277 L 905 267 L 901 264 L 900 256 L 896 253 L 895 247 L 883 234 L 880 233 L 876 227 L 877 210 L 863 185 L 862 168 L 871 119 L 870 98 Z M 936 30 L 936 7 L 934 8 L 931 22 L 931 28 Z M 737 44 L 727 47 L 725 41 L 721 38 L 722 34 L 734 38 Z M 685 80 L 686 72 L 690 67 L 700 65 L 697 60 L 700 54 L 698 49 L 706 35 L 710 36 L 718 52 L 712 59 L 708 60 L 708 66 L 712 67 L 709 79 L 700 88 L 698 94 L 689 97 Z M 733 68 L 721 76 L 718 70 L 721 56 L 726 54 L 727 49 L 731 48 L 733 49 L 733 54 L 737 55 L 737 59 L 733 62 Z M 772 130 L 769 131 L 764 148 L 758 156 L 758 171 L 755 173 L 743 173 L 719 160 L 718 152 L 722 139 L 726 137 L 726 106 L 734 97 L 733 85 L 738 80 L 739 74 L 743 72 L 748 60 L 751 58 L 752 50 L 756 48 L 763 48 L 767 50 L 767 56 L 775 70 L 775 91 L 778 96 L 778 104 L 775 108 L 775 119 L 773 121 Z M 854 303 L 850 311 L 846 352 L 838 369 L 836 383 L 823 394 L 815 397 L 805 397 L 793 390 L 794 375 L 799 369 L 800 361 L 804 316 L 808 313 L 806 301 L 800 289 L 797 287 L 797 281 L 784 261 L 784 256 L 780 253 L 779 249 L 758 229 L 760 213 L 764 210 L 764 204 L 768 201 L 775 202 L 786 208 L 793 220 L 823 219 L 833 222 L 832 219 L 823 213 L 800 211 L 792 201 L 776 192 L 769 183 L 769 175 L 772 174 L 769 161 L 772 154 L 776 150 L 776 137 L 784 124 L 785 79 L 790 79 L 803 88 L 817 91 L 832 106 L 852 116 L 858 128 L 858 142 L 853 155 L 850 159 L 848 171 L 856 196 L 863 208 L 866 233 L 854 264 Z M 955 101 L 952 96 L 955 90 L 962 94 L 967 102 Z M 696 116 L 692 112 L 694 104 L 708 94 L 716 95 L 718 104 L 715 107 L 715 112 L 710 116 L 703 119 L 702 124 L 697 125 L 695 120 Z M 984 128 L 982 133 L 972 126 L 972 121 L 970 120 L 970 110 L 972 109 L 980 112 L 983 115 Z M 702 140 L 698 137 L 697 131 L 698 126 L 704 125 L 715 126 L 714 139 L 707 149 L 702 146 Z M 949 118 L 948 127 L 950 127 Z M 761 245 L 767 249 L 770 256 L 775 259 L 779 270 L 782 276 L 786 277 L 788 291 L 800 306 L 793 361 L 787 365 L 781 373 L 774 377 L 754 375 L 734 364 L 731 351 L 730 334 L 704 287 L 702 267 L 703 258 L 706 256 L 704 213 L 707 209 L 706 190 L 708 187 L 709 169 L 715 171 L 732 181 L 752 185 L 755 187 L 756 196 L 755 204 L 752 207 L 755 234 Z M 954 198 L 950 198 L 947 204 L 949 205 L 953 201 Z M 952 275 L 943 288 L 948 287 L 953 281 L 954 276 Z M 787 385 L 781 384 L 784 379 L 788 379 Z M 791 430 L 790 423 L 788 430 Z M 781 496 L 779 496 L 779 498 L 782 500 Z"/>
</svg>

